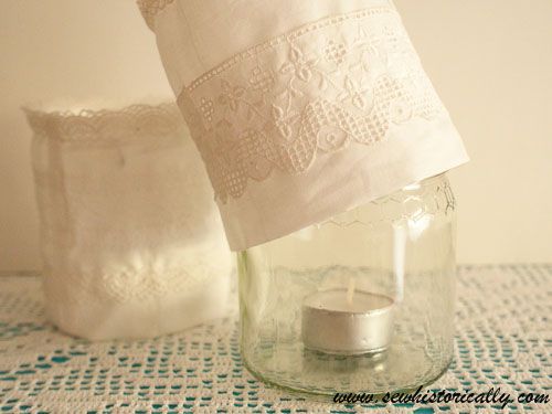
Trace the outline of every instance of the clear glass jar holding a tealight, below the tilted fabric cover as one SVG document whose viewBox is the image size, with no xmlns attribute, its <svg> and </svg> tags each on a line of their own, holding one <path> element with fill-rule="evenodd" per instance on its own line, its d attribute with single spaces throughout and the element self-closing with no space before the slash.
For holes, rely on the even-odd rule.
<svg viewBox="0 0 552 414">
<path fill-rule="evenodd" d="M 238 254 L 256 376 L 319 394 L 411 390 L 453 358 L 455 200 L 444 174 Z"/>
</svg>

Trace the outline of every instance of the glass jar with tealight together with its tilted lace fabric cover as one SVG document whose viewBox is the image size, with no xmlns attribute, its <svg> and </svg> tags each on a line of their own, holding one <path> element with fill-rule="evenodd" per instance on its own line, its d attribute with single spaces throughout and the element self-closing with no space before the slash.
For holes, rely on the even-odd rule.
<svg viewBox="0 0 552 414">
<path fill-rule="evenodd" d="M 454 202 L 433 177 L 468 156 L 393 2 L 138 4 L 241 252 L 251 371 L 315 393 L 439 375 Z"/>
</svg>

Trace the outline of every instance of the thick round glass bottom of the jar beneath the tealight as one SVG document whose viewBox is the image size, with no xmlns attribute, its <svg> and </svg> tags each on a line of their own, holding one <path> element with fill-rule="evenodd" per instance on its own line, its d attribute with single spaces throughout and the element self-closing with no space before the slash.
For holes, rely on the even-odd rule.
<svg viewBox="0 0 552 414">
<path fill-rule="evenodd" d="M 384 394 L 415 391 L 440 378 L 452 355 L 424 354 L 404 358 L 404 351 L 392 347 L 386 351 L 362 355 L 335 355 L 296 347 L 282 347 L 272 353 L 244 358 L 247 370 L 258 380 L 288 391 L 335 395 L 341 393 Z"/>
</svg>

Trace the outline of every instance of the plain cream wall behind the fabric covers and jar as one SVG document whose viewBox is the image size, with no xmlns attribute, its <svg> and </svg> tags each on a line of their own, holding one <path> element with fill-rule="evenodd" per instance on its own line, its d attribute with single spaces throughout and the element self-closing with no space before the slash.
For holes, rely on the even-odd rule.
<svg viewBox="0 0 552 414">
<path fill-rule="evenodd" d="M 395 0 L 473 161 L 461 263 L 552 262 L 552 0 Z M 132 0 L 2 0 L 0 269 L 40 267 L 26 103 L 169 96 Z"/>
</svg>

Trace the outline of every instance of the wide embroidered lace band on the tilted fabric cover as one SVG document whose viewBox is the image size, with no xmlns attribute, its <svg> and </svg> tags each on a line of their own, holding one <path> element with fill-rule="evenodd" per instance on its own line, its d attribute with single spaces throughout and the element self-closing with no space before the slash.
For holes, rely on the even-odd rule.
<svg viewBox="0 0 552 414">
<path fill-rule="evenodd" d="M 274 170 L 370 146 L 393 124 L 445 112 L 390 8 L 327 18 L 235 55 L 178 103 L 222 203 Z"/>
</svg>

